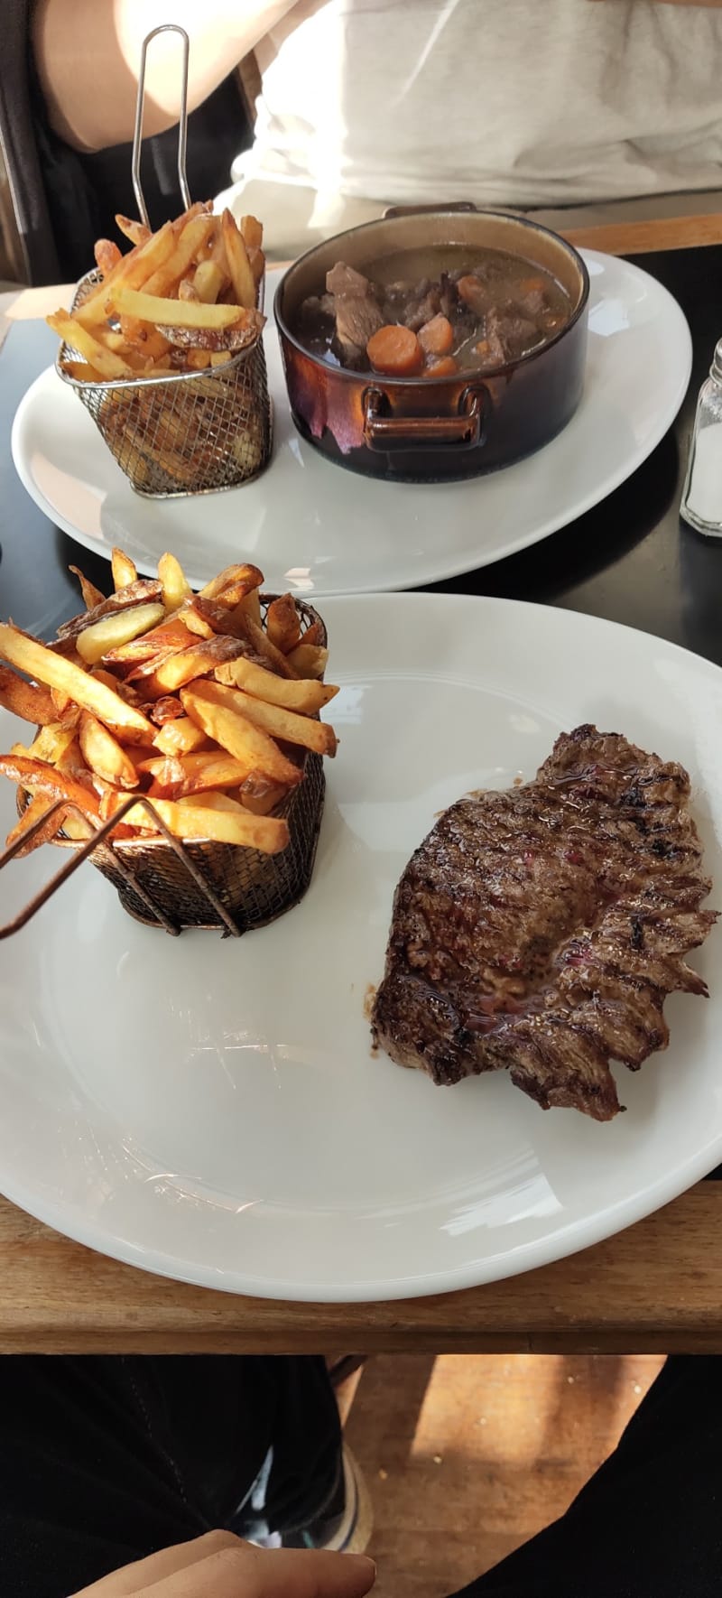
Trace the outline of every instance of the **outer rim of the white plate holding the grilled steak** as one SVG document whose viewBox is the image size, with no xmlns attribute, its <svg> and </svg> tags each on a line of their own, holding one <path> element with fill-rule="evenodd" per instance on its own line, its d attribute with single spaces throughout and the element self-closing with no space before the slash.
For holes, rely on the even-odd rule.
<svg viewBox="0 0 722 1598">
<path fill-rule="evenodd" d="M 677 644 L 671 639 L 660 638 L 655 633 L 645 633 L 641 628 L 629 626 L 623 622 L 612 622 L 604 617 L 588 615 L 583 610 L 572 610 L 564 606 L 546 606 L 538 601 L 526 599 L 506 599 L 497 594 L 428 594 L 428 593 L 363 593 L 363 594 L 339 594 L 327 596 L 334 609 L 348 607 L 372 607 L 383 604 L 385 609 L 403 606 L 422 610 L 423 607 L 434 607 L 438 614 L 439 602 L 442 602 L 446 610 L 471 610 L 473 607 L 495 609 L 498 614 L 503 612 L 534 612 L 538 617 L 545 617 L 551 625 L 551 618 L 556 618 L 559 610 L 564 615 L 573 618 L 572 625 L 583 625 L 588 628 L 591 625 L 593 631 L 601 634 L 609 633 L 625 633 L 629 638 L 642 638 L 645 642 L 653 646 L 661 646 L 664 654 L 672 657 L 680 657 L 687 670 L 693 670 L 704 678 L 722 681 L 722 666 L 711 662 L 708 657 L 687 649 L 684 644 Z M 562 623 L 565 625 L 565 623 Z M 403 628 L 399 634 L 403 636 Z M 339 628 L 340 633 L 340 628 Z M 347 673 L 339 671 L 339 678 L 343 681 Z M 6 714 L 6 713 L 3 713 Z M 695 773 L 692 773 L 695 780 Z M 0 1171 L 0 1191 L 10 1202 L 18 1203 L 26 1213 L 34 1216 L 59 1230 L 61 1235 L 81 1243 L 105 1258 L 117 1259 L 123 1264 L 136 1266 L 152 1275 L 158 1275 L 168 1280 L 184 1282 L 193 1286 L 216 1288 L 219 1291 L 230 1293 L 232 1296 L 249 1296 L 260 1299 L 278 1299 L 283 1302 L 321 1302 L 321 1304 L 372 1304 L 372 1302 L 398 1302 L 403 1299 L 426 1298 L 439 1293 L 462 1291 L 465 1288 L 476 1288 L 490 1285 L 495 1282 L 503 1282 L 511 1277 L 521 1275 L 527 1270 L 538 1269 L 542 1266 L 553 1264 L 556 1261 L 570 1258 L 575 1253 L 593 1246 L 594 1243 L 604 1242 L 615 1237 L 618 1232 L 626 1230 L 637 1221 L 657 1213 L 666 1203 L 687 1192 L 690 1186 L 709 1175 L 709 1171 L 722 1162 L 722 1117 L 719 1130 L 693 1154 L 687 1154 L 680 1165 L 674 1168 L 664 1168 L 660 1176 L 647 1183 L 642 1189 L 637 1189 L 633 1197 L 613 1198 L 605 1203 L 601 1210 L 588 1214 L 581 1219 L 569 1219 L 559 1229 L 545 1234 L 542 1238 L 527 1240 L 518 1243 L 508 1250 L 503 1256 L 503 1270 L 498 1270 L 495 1262 L 498 1261 L 498 1251 L 479 1261 L 466 1261 L 458 1267 L 446 1267 L 442 1270 L 434 1269 L 430 1274 L 415 1274 L 409 1277 L 390 1280 L 359 1280 L 353 1285 L 343 1283 L 343 1291 L 334 1293 L 326 1282 L 305 1282 L 289 1285 L 276 1278 L 260 1278 L 260 1277 L 243 1277 L 243 1272 L 219 1270 L 219 1267 L 188 1267 L 188 1264 L 173 1262 L 171 1254 L 158 1254 L 153 1248 L 147 1248 L 142 1243 L 133 1242 L 125 1235 L 117 1235 L 107 1238 L 102 1227 L 97 1224 L 83 1222 L 83 1216 L 72 1211 L 70 1221 L 64 1219 L 62 1203 L 51 1197 L 37 1198 L 22 1179 L 10 1181 L 6 1175 Z M 620 1222 L 620 1214 L 623 1214 L 623 1222 Z"/>
</svg>

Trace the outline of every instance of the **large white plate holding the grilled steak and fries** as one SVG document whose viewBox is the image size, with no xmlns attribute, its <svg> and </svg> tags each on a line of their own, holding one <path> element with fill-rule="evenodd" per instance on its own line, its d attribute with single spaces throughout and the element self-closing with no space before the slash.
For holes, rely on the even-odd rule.
<svg viewBox="0 0 722 1598">
<path fill-rule="evenodd" d="M 506 1075 L 436 1088 L 372 1056 L 364 997 L 396 879 L 442 805 L 534 773 L 561 729 L 593 719 L 690 769 L 719 904 L 722 671 L 502 599 L 324 610 L 342 743 L 307 898 L 240 941 L 174 940 L 83 868 L 0 943 L 0 1189 L 93 1248 L 208 1286 L 439 1293 L 607 1237 L 722 1160 L 722 925 L 695 957 L 711 999 L 668 1000 L 668 1051 L 617 1069 L 628 1112 L 599 1125 L 543 1114 Z M 11 733 L 3 718 L 0 748 Z M 2 825 L 8 783 L 0 802 Z M 40 853 L 3 876 L 3 916 L 56 868 Z"/>
</svg>

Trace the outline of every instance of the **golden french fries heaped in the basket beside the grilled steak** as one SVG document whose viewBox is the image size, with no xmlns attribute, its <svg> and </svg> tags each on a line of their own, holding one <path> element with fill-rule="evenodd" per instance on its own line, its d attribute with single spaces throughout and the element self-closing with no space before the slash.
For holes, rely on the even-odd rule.
<svg viewBox="0 0 722 1598">
<path fill-rule="evenodd" d="M 113 550 L 107 598 L 72 572 L 85 610 L 54 644 L 0 625 L 0 705 L 38 729 L 0 756 L 27 797 L 8 847 L 29 853 L 61 829 L 88 839 L 142 794 L 150 810 L 133 805 L 112 841 L 153 837 L 160 818 L 182 841 L 286 849 L 288 821 L 273 812 L 303 781 L 307 751 L 337 746 L 319 721 L 339 692 L 321 681 L 319 623 L 302 634 L 292 594 L 264 617 L 256 566 L 228 566 L 195 594 L 173 555 L 157 578 L 139 578 Z"/>
</svg>

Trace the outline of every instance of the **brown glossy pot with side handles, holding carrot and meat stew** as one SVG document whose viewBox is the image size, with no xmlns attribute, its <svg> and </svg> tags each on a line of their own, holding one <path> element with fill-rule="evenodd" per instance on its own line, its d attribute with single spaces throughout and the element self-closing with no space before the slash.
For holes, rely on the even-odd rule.
<svg viewBox="0 0 722 1598">
<path fill-rule="evenodd" d="M 543 267 L 572 302 L 565 326 L 538 352 L 498 371 L 382 377 L 332 366 L 294 331 L 308 294 L 323 294 L 337 260 L 367 270 L 396 251 L 431 244 L 505 249 Z M 366 222 L 316 244 L 284 273 L 275 297 L 291 415 L 329 460 L 396 481 L 468 478 L 532 454 L 567 425 L 585 382 L 589 276 L 581 256 L 538 222 L 502 211 L 425 211 Z"/>
</svg>

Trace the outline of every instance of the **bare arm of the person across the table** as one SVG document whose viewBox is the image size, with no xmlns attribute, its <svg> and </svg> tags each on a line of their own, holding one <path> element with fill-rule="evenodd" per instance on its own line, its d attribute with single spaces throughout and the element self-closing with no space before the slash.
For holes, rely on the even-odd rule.
<svg viewBox="0 0 722 1598">
<path fill-rule="evenodd" d="M 145 34 L 179 22 L 190 38 L 188 110 L 228 77 L 296 0 L 37 0 L 32 45 L 51 126 L 77 150 L 133 137 Z M 169 14 L 173 13 L 173 14 Z M 144 134 L 177 121 L 180 40 L 153 40 L 145 70 Z"/>
</svg>

